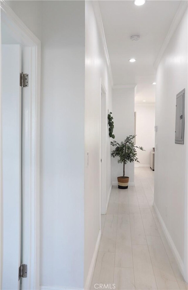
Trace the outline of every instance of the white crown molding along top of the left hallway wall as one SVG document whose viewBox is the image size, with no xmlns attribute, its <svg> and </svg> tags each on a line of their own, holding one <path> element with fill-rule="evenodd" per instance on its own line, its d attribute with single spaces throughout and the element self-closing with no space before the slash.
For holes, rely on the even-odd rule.
<svg viewBox="0 0 188 290">
<path fill-rule="evenodd" d="M 113 86 L 113 76 L 112 76 L 112 70 L 111 70 L 111 66 L 110 66 L 110 58 L 109 58 L 109 55 L 108 55 L 108 49 L 107 49 L 107 45 L 106 45 L 103 21 L 102 21 L 101 14 L 100 14 L 99 2 L 98 1 L 92 1 L 92 4 L 93 4 L 93 10 L 94 10 L 94 13 L 95 13 L 95 18 L 96 18 L 96 21 L 97 21 L 97 24 L 98 24 L 100 37 L 101 37 L 102 44 L 103 44 L 103 50 L 104 50 L 104 54 L 105 54 L 106 64 L 107 64 L 107 67 L 108 67 L 108 73 L 110 75 L 111 84 Z"/>
</svg>

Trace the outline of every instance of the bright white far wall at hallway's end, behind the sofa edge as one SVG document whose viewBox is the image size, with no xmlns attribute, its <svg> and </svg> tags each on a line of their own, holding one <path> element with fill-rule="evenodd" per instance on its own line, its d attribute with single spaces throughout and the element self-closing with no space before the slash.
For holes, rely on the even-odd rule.
<svg viewBox="0 0 188 290">
<path fill-rule="evenodd" d="M 136 112 L 136 145 L 145 151 L 137 149 L 140 163 L 135 165 L 149 165 L 150 151 L 155 147 L 155 105 L 135 104 Z"/>
</svg>

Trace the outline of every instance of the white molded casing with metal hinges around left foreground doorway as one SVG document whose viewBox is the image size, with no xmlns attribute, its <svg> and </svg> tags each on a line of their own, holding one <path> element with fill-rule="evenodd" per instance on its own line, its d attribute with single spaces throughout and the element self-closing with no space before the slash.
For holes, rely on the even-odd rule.
<svg viewBox="0 0 188 290">
<path fill-rule="evenodd" d="M 29 74 L 29 87 L 24 88 L 24 112 L 23 112 L 24 113 L 23 114 L 24 118 L 23 263 L 28 265 L 28 277 L 22 279 L 23 280 L 22 285 L 24 289 L 39 289 L 39 130 L 40 130 L 41 42 L 19 19 L 19 17 L 10 9 L 10 7 L 6 4 L 5 1 L 1 1 L 1 24 L 2 23 L 3 25 L 6 26 L 6 31 L 9 31 L 10 35 L 13 36 L 15 42 L 21 45 L 23 49 L 23 60 L 24 60 L 23 70 L 26 70 L 24 73 Z M 2 90 L 1 90 L 1 102 L 2 102 Z M 1 137 L 1 146 L 2 142 L 4 141 L 3 138 Z M 1 176 L 3 171 L 2 166 L 3 164 L 1 156 Z M 3 208 L 2 178 L 1 178 L 1 208 Z M 2 211 L 1 211 L 1 220 L 2 220 Z M 1 229 L 1 255 L 4 250 L 2 245 L 2 239 L 3 239 L 3 231 Z M 2 265 L 3 261 L 1 259 L 1 268 Z M 1 271 L 1 280 L 2 280 L 2 271 Z M 18 289 L 18 287 L 14 289 Z"/>
</svg>

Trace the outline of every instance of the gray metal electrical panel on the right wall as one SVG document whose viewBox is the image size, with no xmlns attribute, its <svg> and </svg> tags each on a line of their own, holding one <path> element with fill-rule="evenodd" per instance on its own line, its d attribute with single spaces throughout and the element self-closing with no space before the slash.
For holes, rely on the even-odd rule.
<svg viewBox="0 0 188 290">
<path fill-rule="evenodd" d="M 175 143 L 184 144 L 185 89 L 176 95 Z"/>
</svg>

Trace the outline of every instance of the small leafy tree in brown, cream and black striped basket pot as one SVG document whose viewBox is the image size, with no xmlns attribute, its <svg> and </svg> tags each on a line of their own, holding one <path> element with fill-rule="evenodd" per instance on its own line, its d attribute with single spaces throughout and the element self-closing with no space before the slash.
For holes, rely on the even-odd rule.
<svg viewBox="0 0 188 290">
<path fill-rule="evenodd" d="M 136 135 L 129 135 L 124 141 L 119 144 L 116 141 L 112 141 L 111 145 L 115 146 L 115 150 L 112 151 L 111 156 L 115 158 L 119 157 L 118 163 L 123 163 L 123 176 L 117 177 L 118 188 L 125 189 L 128 188 L 129 177 L 125 176 L 125 164 L 127 162 L 139 162 L 137 158 L 137 152 L 135 148 L 144 150 L 142 147 L 135 146 L 133 139 Z M 145 151 L 145 150 L 144 150 Z"/>
</svg>

